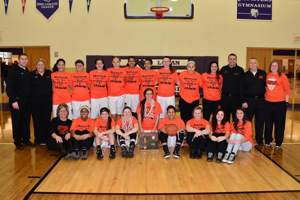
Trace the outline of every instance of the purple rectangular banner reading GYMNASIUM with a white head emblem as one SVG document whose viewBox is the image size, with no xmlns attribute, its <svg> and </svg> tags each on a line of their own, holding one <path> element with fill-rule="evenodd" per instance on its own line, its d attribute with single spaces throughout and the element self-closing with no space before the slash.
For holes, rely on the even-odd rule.
<svg viewBox="0 0 300 200">
<path fill-rule="evenodd" d="M 237 19 L 272 20 L 272 0 L 237 0 Z"/>
</svg>

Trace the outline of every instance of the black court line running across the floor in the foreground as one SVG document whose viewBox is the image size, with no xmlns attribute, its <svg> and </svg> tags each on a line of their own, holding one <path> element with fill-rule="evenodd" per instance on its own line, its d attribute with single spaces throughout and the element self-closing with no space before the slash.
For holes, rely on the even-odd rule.
<svg viewBox="0 0 300 200">
<path fill-rule="evenodd" d="M 213 195 L 213 194 L 253 194 L 253 193 L 290 193 L 300 190 L 274 190 L 274 191 L 242 191 L 242 192 L 203 192 L 203 193 L 65 193 L 65 192 L 33 192 L 33 194 L 69 194 L 69 195 Z"/>
</svg>

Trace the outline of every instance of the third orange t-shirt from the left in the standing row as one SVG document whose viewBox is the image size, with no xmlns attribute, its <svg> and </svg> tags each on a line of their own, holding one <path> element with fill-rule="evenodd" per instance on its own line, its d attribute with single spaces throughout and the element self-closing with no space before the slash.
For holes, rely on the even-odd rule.
<svg viewBox="0 0 300 200">
<path fill-rule="evenodd" d="M 101 99 L 107 97 L 108 73 L 105 70 L 97 72 L 97 69 L 89 73 L 91 80 L 90 98 Z"/>
</svg>

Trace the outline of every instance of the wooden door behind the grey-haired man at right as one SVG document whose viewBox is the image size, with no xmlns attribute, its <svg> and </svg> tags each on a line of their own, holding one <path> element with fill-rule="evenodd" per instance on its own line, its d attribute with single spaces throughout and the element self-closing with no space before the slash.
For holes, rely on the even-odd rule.
<svg viewBox="0 0 300 200">
<path fill-rule="evenodd" d="M 258 61 L 258 69 L 268 72 L 269 65 L 272 61 L 272 49 L 247 48 L 246 71 L 249 69 L 248 63 L 250 58 L 255 57 Z"/>
</svg>

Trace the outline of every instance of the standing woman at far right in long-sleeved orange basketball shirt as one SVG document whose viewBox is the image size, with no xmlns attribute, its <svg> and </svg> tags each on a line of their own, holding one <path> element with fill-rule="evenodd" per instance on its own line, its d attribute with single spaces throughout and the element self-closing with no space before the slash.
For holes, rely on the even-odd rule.
<svg viewBox="0 0 300 200">
<path fill-rule="evenodd" d="M 280 64 L 273 60 L 267 74 L 267 89 L 265 93 L 265 146 L 270 146 L 273 137 L 275 147 L 280 148 L 283 142 L 287 105 L 289 104 L 289 81 L 285 74 L 280 73 Z"/>
</svg>

